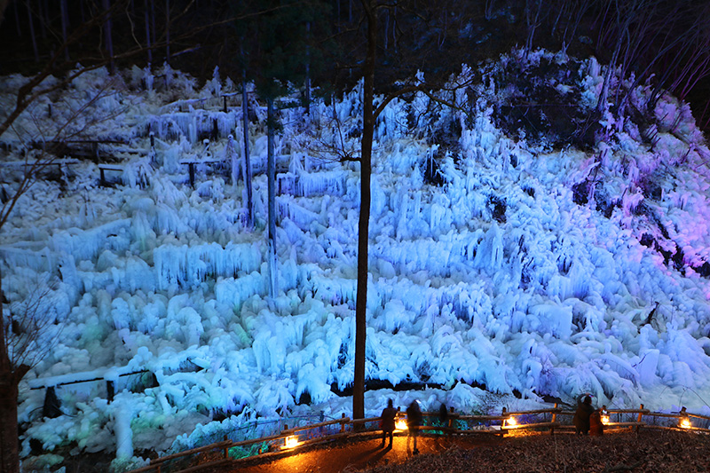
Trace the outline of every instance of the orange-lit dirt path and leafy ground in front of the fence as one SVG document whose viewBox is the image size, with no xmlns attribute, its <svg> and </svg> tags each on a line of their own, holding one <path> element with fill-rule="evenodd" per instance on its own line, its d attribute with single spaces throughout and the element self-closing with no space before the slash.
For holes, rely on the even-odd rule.
<svg viewBox="0 0 710 473">
<path fill-rule="evenodd" d="M 710 435 L 677 430 L 623 431 L 588 437 L 543 433 L 468 436 L 449 441 L 419 438 L 420 454 L 412 454 L 407 438 L 380 448 L 380 438 L 313 446 L 286 457 L 237 463 L 209 473 L 710 473 Z M 208 473 L 208 470 L 203 470 Z"/>
</svg>

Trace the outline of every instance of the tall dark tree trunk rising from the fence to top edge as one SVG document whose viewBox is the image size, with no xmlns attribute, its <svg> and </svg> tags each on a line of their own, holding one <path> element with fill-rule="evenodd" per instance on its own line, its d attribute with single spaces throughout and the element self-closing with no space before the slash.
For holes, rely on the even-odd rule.
<svg viewBox="0 0 710 473">
<path fill-rule="evenodd" d="M 352 383 L 352 417 L 365 418 L 365 349 L 367 330 L 367 276 L 370 231 L 370 178 L 372 141 L 375 135 L 375 53 L 377 18 L 369 0 L 362 0 L 367 16 L 367 55 L 363 68 L 362 141 L 360 144 L 360 216 L 358 222 L 358 290 L 355 298 L 355 374 Z"/>
</svg>

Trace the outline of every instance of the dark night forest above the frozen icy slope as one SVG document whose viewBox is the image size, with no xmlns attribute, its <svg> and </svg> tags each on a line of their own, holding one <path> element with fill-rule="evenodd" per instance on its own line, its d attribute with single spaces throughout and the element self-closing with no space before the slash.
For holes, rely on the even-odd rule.
<svg viewBox="0 0 710 473">
<path fill-rule="evenodd" d="M 428 81 L 543 47 L 613 63 L 690 102 L 710 126 L 710 3 L 704 0 L 403 0 L 377 4 L 375 90 L 417 70 Z M 2 2 L 0 2 L 2 8 Z M 10 0 L 0 74 L 61 75 L 81 63 L 170 67 L 234 83 L 309 80 L 328 95 L 356 83 L 367 44 L 358 0 Z"/>
</svg>

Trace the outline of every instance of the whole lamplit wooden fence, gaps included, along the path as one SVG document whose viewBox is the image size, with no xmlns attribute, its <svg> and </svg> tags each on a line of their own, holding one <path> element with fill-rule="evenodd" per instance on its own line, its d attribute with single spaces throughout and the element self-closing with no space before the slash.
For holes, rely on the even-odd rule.
<svg viewBox="0 0 710 473">
<path fill-rule="evenodd" d="M 441 413 L 423 413 L 425 422 L 419 430 L 429 435 L 446 435 L 449 437 L 461 435 L 493 435 L 504 436 L 516 431 L 536 430 L 550 434 L 574 433 L 570 422 L 559 422 L 560 417 L 574 415 L 574 411 L 564 410 L 555 405 L 549 409 L 532 411 L 510 412 L 503 408 L 500 415 L 465 415 L 456 414 L 451 408 L 446 416 Z M 398 413 L 395 433 L 406 431 L 404 423 L 406 416 Z M 616 418 L 616 420 L 614 420 Z M 173 453 L 156 458 L 140 469 L 131 470 L 129 473 L 155 472 L 188 473 L 201 469 L 224 466 L 236 466 L 245 461 L 267 459 L 294 453 L 309 445 L 323 444 L 341 438 L 372 438 L 379 436 L 380 417 L 352 420 L 343 414 L 341 419 L 319 422 L 303 427 L 288 428 L 264 438 L 232 441 L 226 438 L 223 441 L 210 445 L 193 448 L 185 452 Z M 643 408 L 638 409 L 604 409 L 603 423 L 605 432 L 619 432 L 623 430 L 638 431 L 640 429 L 667 429 L 688 430 L 710 433 L 710 416 L 690 414 L 685 407 L 678 413 L 656 413 Z M 694 425 L 695 423 L 695 425 Z M 703 423 L 705 427 L 697 424 Z M 261 444 L 257 453 L 243 453 L 245 447 Z M 177 463 L 177 464 L 171 464 Z"/>
</svg>

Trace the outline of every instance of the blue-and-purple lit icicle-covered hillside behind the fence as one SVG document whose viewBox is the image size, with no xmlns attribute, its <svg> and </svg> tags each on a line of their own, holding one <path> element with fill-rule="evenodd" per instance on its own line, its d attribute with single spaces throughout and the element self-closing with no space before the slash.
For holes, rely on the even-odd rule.
<svg viewBox="0 0 710 473">
<path fill-rule="evenodd" d="M 538 51 L 525 64 L 541 59 L 566 60 Z M 580 64 L 572 87 L 596 106 L 604 67 Z M 500 67 L 464 69 L 455 80 L 475 84 L 442 92 L 459 109 L 419 93 L 378 121 L 366 375 L 429 387 L 369 391 L 366 414 L 388 397 L 487 412 L 581 392 L 710 414 L 710 152 L 690 108 L 664 96 L 645 130 L 608 113 L 593 149 L 549 146 L 495 126 L 494 105 L 510 93 L 495 81 Z M 99 145 L 122 169 L 106 178 L 121 183 L 100 185 L 91 160 L 70 164 L 31 187 L 0 235 L 6 308 L 48 284 L 41 307 L 57 322 L 20 385 L 23 457 L 31 438 L 130 458 L 223 428 L 257 435 L 279 417 L 351 413 L 341 393 L 353 377 L 359 166 L 338 157 L 358 154 L 359 89 L 310 116 L 281 111 L 272 298 L 264 107 L 252 96 L 251 229 L 239 95 L 222 111 L 221 94 L 239 88 L 218 73 L 202 88 L 170 68 L 154 74 L 87 73 L 2 137 L 8 192 L 20 170 L 8 162 L 87 102 L 66 132 L 124 142 Z M 2 78 L 4 108 L 22 80 Z M 191 160 L 223 162 L 198 163 L 192 187 L 181 163 Z M 141 370 L 154 378 L 121 375 Z M 78 378 L 113 381 L 114 401 L 103 381 L 62 384 Z M 51 385 L 64 415 L 43 419 L 45 390 L 31 388 Z"/>
</svg>

